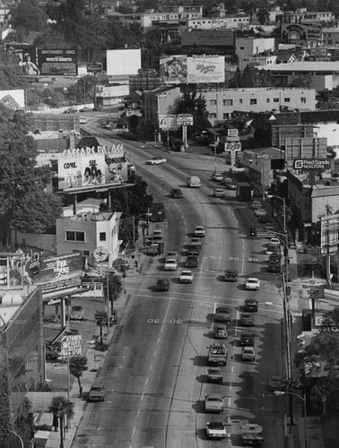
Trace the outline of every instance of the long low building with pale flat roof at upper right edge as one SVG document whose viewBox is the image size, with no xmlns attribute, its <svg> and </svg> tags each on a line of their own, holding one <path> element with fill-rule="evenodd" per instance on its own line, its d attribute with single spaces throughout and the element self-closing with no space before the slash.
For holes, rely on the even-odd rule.
<svg viewBox="0 0 339 448">
<path fill-rule="evenodd" d="M 285 87 L 296 78 L 309 77 L 309 87 L 317 91 L 333 90 L 339 86 L 339 61 L 303 61 L 291 64 L 263 65 L 260 70 L 269 70 L 278 85 Z"/>
</svg>

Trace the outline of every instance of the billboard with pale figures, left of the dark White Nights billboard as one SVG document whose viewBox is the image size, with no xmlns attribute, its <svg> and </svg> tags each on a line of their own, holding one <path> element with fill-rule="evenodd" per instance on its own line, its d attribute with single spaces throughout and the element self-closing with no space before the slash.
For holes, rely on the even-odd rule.
<svg viewBox="0 0 339 448">
<path fill-rule="evenodd" d="M 22 73 L 31 76 L 40 74 L 37 47 L 28 44 L 5 44 L 7 55 L 21 68 Z"/>
</svg>

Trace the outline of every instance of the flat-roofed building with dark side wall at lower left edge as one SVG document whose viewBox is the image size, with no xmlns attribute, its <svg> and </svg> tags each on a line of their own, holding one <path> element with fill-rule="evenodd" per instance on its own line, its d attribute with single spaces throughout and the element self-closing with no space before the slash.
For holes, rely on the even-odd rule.
<svg viewBox="0 0 339 448">
<path fill-rule="evenodd" d="M 9 284 L 12 275 L 20 280 L 19 268 L 12 269 L 18 254 L 0 254 L 0 260 L 0 375 L 2 392 L 9 392 L 9 411 L 16 421 L 22 415 L 26 392 L 45 381 L 42 299 L 38 287 L 23 285 L 23 281 L 20 286 Z"/>
</svg>

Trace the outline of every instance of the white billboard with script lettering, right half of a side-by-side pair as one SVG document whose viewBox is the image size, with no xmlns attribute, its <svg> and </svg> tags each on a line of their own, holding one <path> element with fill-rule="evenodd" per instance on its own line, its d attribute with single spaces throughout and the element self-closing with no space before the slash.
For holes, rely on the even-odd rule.
<svg viewBox="0 0 339 448">
<path fill-rule="evenodd" d="M 225 82 L 225 58 L 215 55 L 187 57 L 187 82 Z"/>
</svg>

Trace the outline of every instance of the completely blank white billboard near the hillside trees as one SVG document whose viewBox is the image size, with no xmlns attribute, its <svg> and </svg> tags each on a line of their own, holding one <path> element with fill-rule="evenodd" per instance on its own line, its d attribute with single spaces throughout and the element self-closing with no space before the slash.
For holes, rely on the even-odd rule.
<svg viewBox="0 0 339 448">
<path fill-rule="evenodd" d="M 141 49 L 107 50 L 107 74 L 123 75 L 137 74 L 141 69 Z"/>
</svg>

